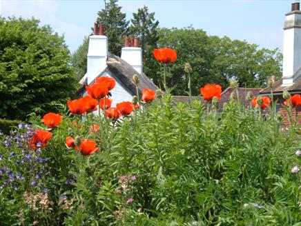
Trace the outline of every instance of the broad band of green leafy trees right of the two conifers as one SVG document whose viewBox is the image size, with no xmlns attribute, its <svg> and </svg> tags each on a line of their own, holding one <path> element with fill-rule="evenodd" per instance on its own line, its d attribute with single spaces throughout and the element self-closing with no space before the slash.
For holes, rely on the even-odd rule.
<svg viewBox="0 0 301 226">
<path fill-rule="evenodd" d="M 246 41 L 231 40 L 228 37 L 208 36 L 203 30 L 191 27 L 162 28 L 159 30 L 159 47 L 174 48 L 178 60 L 169 68 L 168 87 L 174 87 L 173 94 L 185 94 L 188 75 L 185 63 L 193 69 L 191 84 L 193 95 L 206 83 L 219 83 L 223 88 L 235 79 L 240 87 L 256 88 L 266 86 L 272 74 L 281 75 L 282 55 L 278 49 L 259 49 L 258 45 Z M 153 78 L 162 84 L 162 73 L 157 71 Z"/>
</svg>

